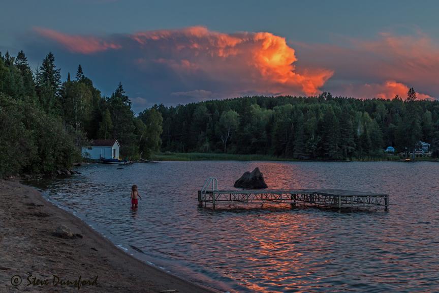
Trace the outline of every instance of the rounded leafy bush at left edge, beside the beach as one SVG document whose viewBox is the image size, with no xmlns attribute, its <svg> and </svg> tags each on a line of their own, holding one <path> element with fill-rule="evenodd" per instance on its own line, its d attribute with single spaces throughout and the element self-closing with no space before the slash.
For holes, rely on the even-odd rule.
<svg viewBox="0 0 439 293">
<path fill-rule="evenodd" d="M 39 107 L 0 93 L 0 176 L 50 173 L 79 158 L 73 136 Z"/>
</svg>

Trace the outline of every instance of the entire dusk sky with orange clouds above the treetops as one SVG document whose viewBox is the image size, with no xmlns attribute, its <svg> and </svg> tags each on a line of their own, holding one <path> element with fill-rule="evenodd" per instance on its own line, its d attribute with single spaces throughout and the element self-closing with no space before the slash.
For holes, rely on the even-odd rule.
<svg viewBox="0 0 439 293">
<path fill-rule="evenodd" d="M 439 98 L 437 1 L 2 0 L 0 51 L 135 112 L 247 95 Z"/>
</svg>

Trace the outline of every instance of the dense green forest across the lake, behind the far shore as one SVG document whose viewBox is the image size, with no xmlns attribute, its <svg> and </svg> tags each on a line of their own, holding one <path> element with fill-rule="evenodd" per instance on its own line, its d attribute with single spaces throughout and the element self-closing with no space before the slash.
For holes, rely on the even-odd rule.
<svg viewBox="0 0 439 293">
<path fill-rule="evenodd" d="M 244 97 L 176 107 L 163 116 L 162 151 L 264 154 L 350 160 L 408 153 L 419 141 L 439 147 L 439 102 L 411 89 L 393 100 L 333 97 Z"/>
</svg>

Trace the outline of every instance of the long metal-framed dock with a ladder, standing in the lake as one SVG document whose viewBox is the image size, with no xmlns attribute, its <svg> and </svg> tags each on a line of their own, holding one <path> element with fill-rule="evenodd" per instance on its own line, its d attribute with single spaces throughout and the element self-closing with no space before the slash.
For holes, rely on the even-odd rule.
<svg viewBox="0 0 439 293">
<path fill-rule="evenodd" d="M 389 210 L 389 195 L 341 189 L 252 189 L 252 190 L 218 190 L 215 178 L 209 178 L 203 188 L 198 191 L 198 205 L 207 207 L 217 204 L 232 203 L 287 203 L 291 207 L 296 204 L 330 208 L 361 208 L 366 206 L 382 206 Z"/>
</svg>

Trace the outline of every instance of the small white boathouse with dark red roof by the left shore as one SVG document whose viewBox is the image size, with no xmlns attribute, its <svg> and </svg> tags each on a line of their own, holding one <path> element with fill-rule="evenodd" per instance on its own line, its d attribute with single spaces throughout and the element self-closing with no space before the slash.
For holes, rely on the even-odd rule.
<svg viewBox="0 0 439 293">
<path fill-rule="evenodd" d="M 117 139 L 96 139 L 82 147 L 82 157 L 93 160 L 118 159 L 120 144 Z"/>
</svg>

